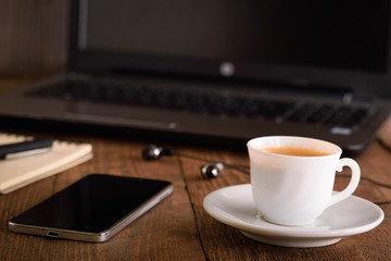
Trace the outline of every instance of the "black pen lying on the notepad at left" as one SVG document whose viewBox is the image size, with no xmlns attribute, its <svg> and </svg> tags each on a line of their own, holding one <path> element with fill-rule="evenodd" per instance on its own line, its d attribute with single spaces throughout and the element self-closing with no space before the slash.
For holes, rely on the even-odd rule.
<svg viewBox="0 0 391 261">
<path fill-rule="evenodd" d="M 53 138 L 38 138 L 15 144 L 0 146 L 0 160 L 18 158 L 48 151 L 52 145 Z"/>
</svg>

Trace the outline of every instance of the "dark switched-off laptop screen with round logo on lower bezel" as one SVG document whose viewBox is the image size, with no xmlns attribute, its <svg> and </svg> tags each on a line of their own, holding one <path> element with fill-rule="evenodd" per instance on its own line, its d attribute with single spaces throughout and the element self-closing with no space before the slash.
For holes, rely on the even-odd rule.
<svg viewBox="0 0 391 261">
<path fill-rule="evenodd" d="M 378 95 L 391 96 L 387 0 L 84 0 L 72 10 L 72 65 L 78 70 L 362 92 L 376 85 Z"/>
</svg>

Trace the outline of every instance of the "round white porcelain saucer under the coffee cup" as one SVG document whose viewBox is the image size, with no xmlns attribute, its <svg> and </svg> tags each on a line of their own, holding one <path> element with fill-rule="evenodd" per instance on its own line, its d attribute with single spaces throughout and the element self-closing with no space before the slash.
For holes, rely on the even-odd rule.
<svg viewBox="0 0 391 261">
<path fill-rule="evenodd" d="M 237 185 L 211 192 L 204 198 L 206 212 L 216 220 L 239 228 L 245 236 L 283 247 L 323 247 L 343 236 L 368 232 L 384 219 L 382 210 L 355 196 L 336 203 L 312 226 L 290 227 L 268 223 L 256 216 L 251 185 Z"/>
</svg>

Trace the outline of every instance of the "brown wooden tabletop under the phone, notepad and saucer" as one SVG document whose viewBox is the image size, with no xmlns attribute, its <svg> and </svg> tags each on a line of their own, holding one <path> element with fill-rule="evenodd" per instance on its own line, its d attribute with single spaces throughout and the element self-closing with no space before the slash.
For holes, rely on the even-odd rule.
<svg viewBox="0 0 391 261">
<path fill-rule="evenodd" d="M 30 133 L 28 133 L 30 134 Z M 36 133 L 37 136 L 49 135 Z M 261 244 L 238 229 L 211 217 L 203 209 L 204 197 L 230 185 L 250 183 L 250 177 L 226 169 L 215 179 L 200 175 L 200 161 L 163 158 L 147 162 L 141 150 L 149 144 L 131 138 L 51 133 L 58 139 L 87 141 L 93 159 L 58 175 L 8 195 L 0 195 L 0 260 L 390 260 L 391 204 L 381 204 L 384 221 L 375 229 L 344 237 L 320 248 L 285 248 Z M 243 145 L 244 146 L 244 145 Z M 226 163 L 248 164 L 243 151 L 175 146 L 176 151 Z M 391 184 L 391 153 L 379 142 L 355 160 L 364 176 Z M 175 185 L 174 192 L 157 207 L 102 244 L 49 239 L 14 234 L 8 221 L 89 173 L 160 178 Z M 336 188 L 346 178 L 337 178 Z M 362 181 L 356 196 L 370 201 L 391 200 L 391 189 Z"/>
</svg>

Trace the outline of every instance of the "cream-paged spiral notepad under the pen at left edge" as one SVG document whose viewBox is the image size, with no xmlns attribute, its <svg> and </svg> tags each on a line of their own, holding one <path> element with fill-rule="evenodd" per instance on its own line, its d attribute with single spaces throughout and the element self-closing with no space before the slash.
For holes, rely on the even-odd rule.
<svg viewBox="0 0 391 261">
<path fill-rule="evenodd" d="M 21 142 L 33 137 L 0 133 L 0 145 Z M 54 140 L 43 153 L 0 161 L 0 192 L 17 188 L 65 171 L 92 158 L 90 144 Z"/>
</svg>

